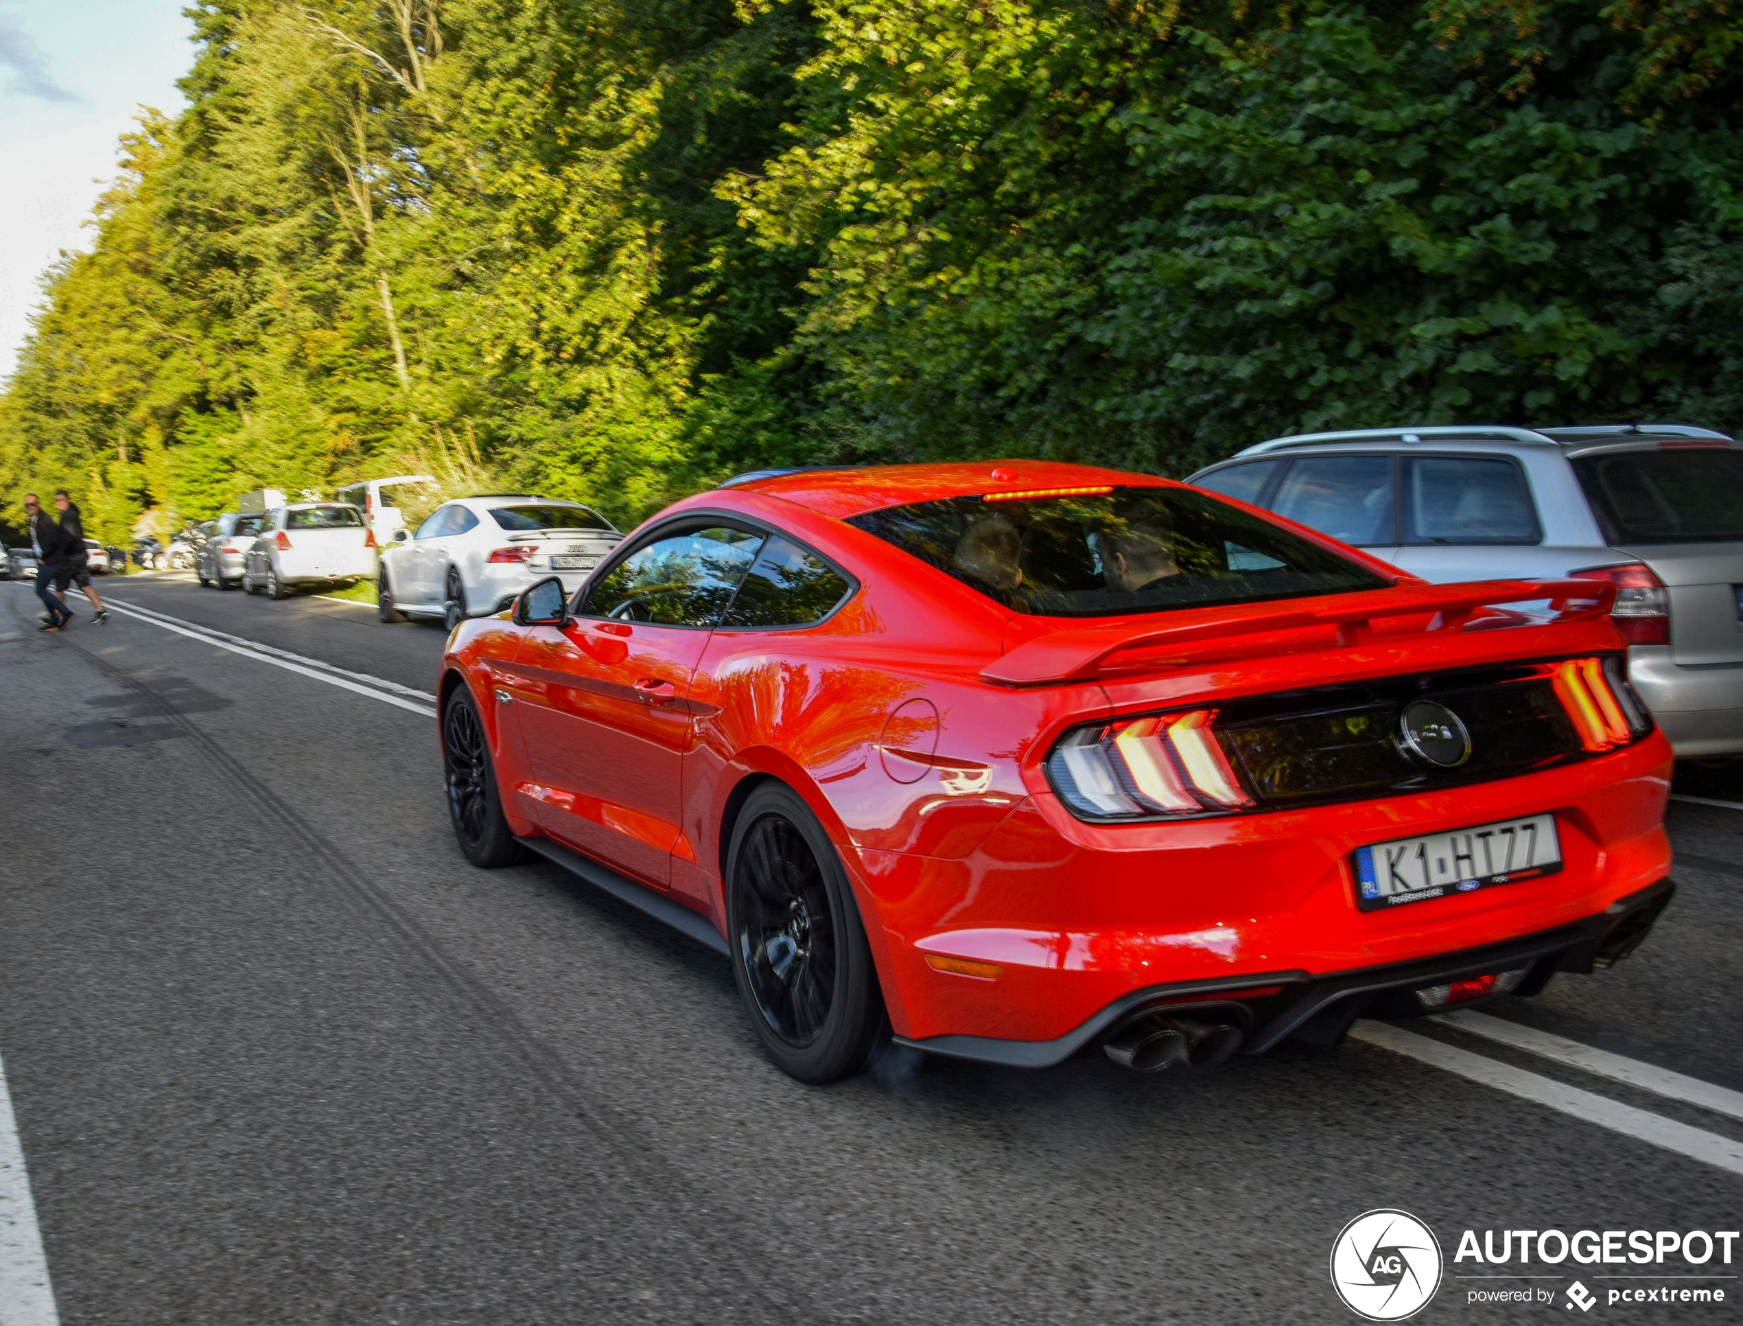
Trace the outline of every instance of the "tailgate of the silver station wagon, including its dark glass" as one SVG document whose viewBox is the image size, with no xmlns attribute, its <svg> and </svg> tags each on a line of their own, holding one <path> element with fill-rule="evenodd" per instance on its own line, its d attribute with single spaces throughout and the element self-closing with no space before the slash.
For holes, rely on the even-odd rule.
<svg viewBox="0 0 1743 1326">
<path fill-rule="evenodd" d="M 1665 441 L 1570 460 L 1607 542 L 1670 591 L 1675 660 L 1743 664 L 1743 448 Z"/>
</svg>

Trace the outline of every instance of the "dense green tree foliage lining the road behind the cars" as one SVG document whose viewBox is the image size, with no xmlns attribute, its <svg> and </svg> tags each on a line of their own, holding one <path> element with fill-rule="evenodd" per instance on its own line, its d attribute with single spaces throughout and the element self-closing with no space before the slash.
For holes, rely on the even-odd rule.
<svg viewBox="0 0 1743 1326">
<path fill-rule="evenodd" d="M 1726 5 L 193 14 L 0 397 L 9 495 L 106 537 L 404 469 L 627 521 L 767 463 L 1743 423 Z"/>
</svg>

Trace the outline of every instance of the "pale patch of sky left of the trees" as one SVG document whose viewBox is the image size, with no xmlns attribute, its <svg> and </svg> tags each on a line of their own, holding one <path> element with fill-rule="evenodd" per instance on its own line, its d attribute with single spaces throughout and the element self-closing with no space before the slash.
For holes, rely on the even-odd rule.
<svg viewBox="0 0 1743 1326">
<path fill-rule="evenodd" d="M 187 0 L 0 0 L 0 376 L 63 249 L 117 173 L 141 105 L 174 113 L 193 61 Z"/>
</svg>

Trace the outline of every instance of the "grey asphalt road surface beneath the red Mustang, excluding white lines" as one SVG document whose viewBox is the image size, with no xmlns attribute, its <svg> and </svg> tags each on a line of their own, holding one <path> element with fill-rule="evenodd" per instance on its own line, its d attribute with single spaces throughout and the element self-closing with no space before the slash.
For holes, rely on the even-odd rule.
<svg viewBox="0 0 1743 1326">
<path fill-rule="evenodd" d="M 434 687 L 437 627 L 99 589 Z M 1461 1232 L 1743 1216 L 1743 1167 L 1354 1038 L 1161 1075 L 898 1051 L 798 1086 L 722 958 L 553 866 L 467 866 L 429 716 L 160 622 L 35 624 L 0 585 L 0 1056 L 63 1323 L 1347 1323 L 1326 1262 L 1372 1208 L 1443 1244 L 1417 1321 L 1569 1321 L 1471 1303 L 1455 1275 L 1508 1268 L 1454 1263 Z M 1642 951 L 1489 1011 L 1743 1091 L 1743 810 L 1679 802 L 1672 836 Z M 1410 1030 L 1743 1141 L 1719 1108 Z M 1705 1284 L 1729 1302 L 1591 1316 L 1738 1319 L 1738 1281 Z"/>
</svg>

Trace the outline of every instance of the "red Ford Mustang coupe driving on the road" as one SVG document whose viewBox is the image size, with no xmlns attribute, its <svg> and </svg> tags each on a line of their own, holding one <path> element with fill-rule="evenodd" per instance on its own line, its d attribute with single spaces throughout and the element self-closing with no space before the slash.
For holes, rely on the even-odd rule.
<svg viewBox="0 0 1743 1326">
<path fill-rule="evenodd" d="M 746 476 L 448 643 L 455 831 L 730 955 L 769 1054 L 1210 1063 L 1607 965 L 1670 746 L 1604 582 L 1429 585 L 1039 462 Z"/>
</svg>

